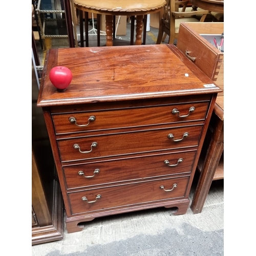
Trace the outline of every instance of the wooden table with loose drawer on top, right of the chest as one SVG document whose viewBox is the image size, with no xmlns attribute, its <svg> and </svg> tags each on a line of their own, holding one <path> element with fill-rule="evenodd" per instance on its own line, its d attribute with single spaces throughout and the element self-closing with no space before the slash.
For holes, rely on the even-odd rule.
<svg viewBox="0 0 256 256">
<path fill-rule="evenodd" d="M 224 179 L 224 53 L 200 35 L 223 32 L 224 23 L 182 23 L 177 41 L 177 48 L 223 90 L 218 93 L 198 162 L 200 177 L 190 206 L 194 214 L 202 211 L 212 181 Z"/>
</svg>

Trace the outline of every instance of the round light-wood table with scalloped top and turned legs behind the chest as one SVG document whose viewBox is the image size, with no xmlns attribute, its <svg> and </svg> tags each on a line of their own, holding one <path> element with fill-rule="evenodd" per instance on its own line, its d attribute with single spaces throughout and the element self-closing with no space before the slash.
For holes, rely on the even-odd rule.
<svg viewBox="0 0 256 256">
<path fill-rule="evenodd" d="M 143 18 L 146 14 L 160 12 L 166 4 L 165 0 L 130 0 L 120 3 L 117 0 L 98 1 L 73 0 L 75 8 L 83 12 L 105 14 L 106 16 L 106 46 L 113 46 L 113 16 L 136 16 L 136 40 L 135 45 L 142 44 Z M 99 16 L 97 15 L 97 18 Z M 145 20 L 145 19 L 144 19 Z M 81 33 L 80 33 L 81 34 Z M 87 34 L 87 32 L 86 32 Z"/>
</svg>

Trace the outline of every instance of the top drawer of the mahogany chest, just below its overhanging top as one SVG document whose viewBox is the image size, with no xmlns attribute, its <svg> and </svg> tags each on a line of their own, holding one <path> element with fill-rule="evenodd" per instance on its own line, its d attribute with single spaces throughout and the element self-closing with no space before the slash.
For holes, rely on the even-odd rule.
<svg viewBox="0 0 256 256">
<path fill-rule="evenodd" d="M 209 102 L 53 114 L 56 134 L 204 120 Z"/>
</svg>

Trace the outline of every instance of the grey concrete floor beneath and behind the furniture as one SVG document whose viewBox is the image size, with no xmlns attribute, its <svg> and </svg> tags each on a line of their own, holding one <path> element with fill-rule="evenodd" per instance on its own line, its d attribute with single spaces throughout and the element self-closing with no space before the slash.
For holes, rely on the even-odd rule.
<svg viewBox="0 0 256 256">
<path fill-rule="evenodd" d="M 146 44 L 155 44 L 158 29 L 147 32 Z M 127 23 L 124 40 L 130 40 Z M 165 39 L 167 42 L 168 37 Z M 105 36 L 101 36 L 102 45 Z M 166 43 L 165 42 L 165 43 Z M 45 50 L 37 42 L 40 63 Z M 67 48 L 68 39 L 47 38 L 47 49 Z M 97 46 L 97 37 L 91 35 L 89 46 Z M 193 199 L 198 175 L 190 191 Z M 131 212 L 95 219 L 86 223 L 80 232 L 67 233 L 65 224 L 60 241 L 32 246 L 32 256 L 55 255 L 224 255 L 224 187 L 223 180 L 212 182 L 201 214 L 194 215 L 188 208 L 185 215 L 174 216 L 167 208 Z"/>
</svg>

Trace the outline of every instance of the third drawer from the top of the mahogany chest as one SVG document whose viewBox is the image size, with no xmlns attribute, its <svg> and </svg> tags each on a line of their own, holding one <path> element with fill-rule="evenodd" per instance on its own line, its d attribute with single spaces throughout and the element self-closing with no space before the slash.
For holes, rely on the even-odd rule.
<svg viewBox="0 0 256 256">
<path fill-rule="evenodd" d="M 196 150 L 63 167 L 67 189 L 188 174 Z"/>
</svg>

